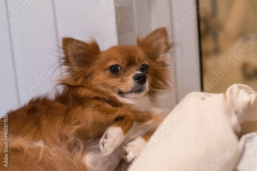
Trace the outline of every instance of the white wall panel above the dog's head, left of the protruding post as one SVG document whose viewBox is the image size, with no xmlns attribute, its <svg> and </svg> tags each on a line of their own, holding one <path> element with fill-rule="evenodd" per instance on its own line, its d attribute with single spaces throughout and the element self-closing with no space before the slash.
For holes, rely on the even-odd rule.
<svg viewBox="0 0 257 171">
<path fill-rule="evenodd" d="M 112 0 L 56 0 L 54 4 L 59 37 L 84 41 L 95 37 L 101 50 L 118 44 Z"/>
</svg>

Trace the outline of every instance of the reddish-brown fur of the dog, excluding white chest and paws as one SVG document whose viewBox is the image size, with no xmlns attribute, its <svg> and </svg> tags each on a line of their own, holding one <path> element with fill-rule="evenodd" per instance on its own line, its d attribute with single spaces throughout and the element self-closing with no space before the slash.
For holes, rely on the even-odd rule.
<svg viewBox="0 0 257 171">
<path fill-rule="evenodd" d="M 82 158 L 90 151 L 90 143 L 100 139 L 109 126 L 121 127 L 126 134 L 135 121 L 159 124 L 161 117 L 121 102 L 117 93 L 131 89 L 130 79 L 142 63 L 149 65 L 149 96 L 169 88 L 165 55 L 170 48 L 165 28 L 138 39 L 137 46 L 115 46 L 105 51 L 100 51 L 95 40 L 85 43 L 64 38 L 61 66 L 66 71 L 58 81 L 63 90 L 53 98 L 36 97 L 8 112 L 8 170 L 86 170 Z M 110 74 L 108 68 L 117 63 L 124 70 Z M 7 170 L 3 162 L 0 170 Z"/>
</svg>

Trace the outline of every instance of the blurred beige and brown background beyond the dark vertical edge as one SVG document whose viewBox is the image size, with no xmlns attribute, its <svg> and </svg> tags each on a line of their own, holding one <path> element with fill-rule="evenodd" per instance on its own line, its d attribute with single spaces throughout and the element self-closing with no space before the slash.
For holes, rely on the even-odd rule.
<svg viewBox="0 0 257 171">
<path fill-rule="evenodd" d="M 257 1 L 198 0 L 204 91 L 234 83 L 257 91 Z"/>
</svg>

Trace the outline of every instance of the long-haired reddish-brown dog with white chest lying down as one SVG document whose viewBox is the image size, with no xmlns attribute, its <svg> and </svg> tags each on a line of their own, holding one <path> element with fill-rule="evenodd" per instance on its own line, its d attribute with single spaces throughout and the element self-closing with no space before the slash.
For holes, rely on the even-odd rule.
<svg viewBox="0 0 257 171">
<path fill-rule="evenodd" d="M 133 161 L 163 120 L 154 98 L 169 88 L 170 48 L 166 28 L 138 39 L 137 46 L 105 51 L 95 40 L 64 38 L 62 90 L 33 98 L 0 120 L 0 156 L 8 157 L 0 170 L 124 169 L 122 161 Z"/>
</svg>

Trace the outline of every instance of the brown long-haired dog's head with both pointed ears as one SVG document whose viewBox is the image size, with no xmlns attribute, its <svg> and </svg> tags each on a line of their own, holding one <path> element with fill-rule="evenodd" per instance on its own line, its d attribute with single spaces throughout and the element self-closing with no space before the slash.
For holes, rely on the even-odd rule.
<svg viewBox="0 0 257 171">
<path fill-rule="evenodd" d="M 154 30 L 137 46 L 114 46 L 101 51 L 97 42 L 63 38 L 64 84 L 104 87 L 120 97 L 138 98 L 169 87 L 166 54 L 171 48 L 166 28 Z"/>
</svg>

